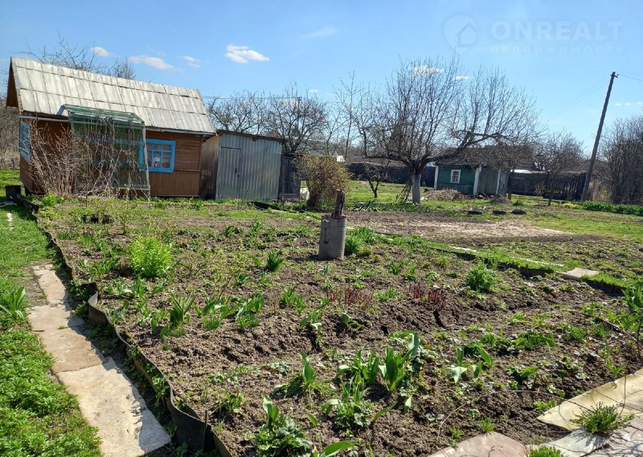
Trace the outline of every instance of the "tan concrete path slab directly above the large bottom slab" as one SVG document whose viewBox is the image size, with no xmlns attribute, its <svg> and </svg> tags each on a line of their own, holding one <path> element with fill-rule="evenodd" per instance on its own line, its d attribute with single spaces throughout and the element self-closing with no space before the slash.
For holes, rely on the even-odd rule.
<svg viewBox="0 0 643 457">
<path fill-rule="evenodd" d="M 42 346 L 53 355 L 54 374 L 79 370 L 104 363 L 105 358 L 91 342 L 72 328 L 46 330 L 38 334 Z"/>
</svg>

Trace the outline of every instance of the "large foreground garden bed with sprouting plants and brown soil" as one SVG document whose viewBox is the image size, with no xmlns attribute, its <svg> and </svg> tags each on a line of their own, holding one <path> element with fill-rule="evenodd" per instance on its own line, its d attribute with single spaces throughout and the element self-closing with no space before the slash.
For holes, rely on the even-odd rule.
<svg viewBox="0 0 643 457">
<path fill-rule="evenodd" d="M 498 283 L 489 292 L 473 291 L 467 275 L 475 261 L 431 249 L 424 238 L 408 236 L 413 230 L 392 229 L 397 222 L 382 230 L 386 235 L 352 232 L 352 255 L 320 262 L 314 213 L 189 202 L 95 204 L 115 222 L 84 223 L 84 213 L 98 211 L 69 203 L 41 210 L 39 219 L 68 264 L 96 281 L 99 305 L 118 330 L 170 378 L 175 401 L 207 417 L 232 455 L 255 455 L 254 436 L 266 423 L 264 395 L 320 448 L 356 438 L 360 455 L 368 449 L 377 456 L 428 455 L 490 428 L 527 444 L 554 436 L 536 420 L 543 409 L 610 381 L 615 368 L 640 368 L 635 348 L 592 317 L 622 308 L 619 294 L 511 269 L 483 269 L 481 276 Z M 349 214 L 349 225 L 399 220 L 394 213 L 367 216 L 376 220 Z M 127 251 L 139 235 L 171 245 L 172 261 L 160 278 L 137 285 Z M 273 272 L 266 268 L 271 252 L 284 261 Z M 190 321 L 164 337 L 168 318 L 155 330 L 144 319 L 143 301 L 155 312 L 192 296 L 201 310 L 212 301 L 233 312 L 219 319 L 221 308 L 197 316 L 192 307 Z M 241 307 L 259 301 L 260 309 L 235 319 Z M 302 325 L 316 310 L 320 316 Z M 341 399 L 342 383 L 350 384 L 347 373 L 336 376 L 341 365 L 363 347 L 365 359 L 370 348 L 381 358 L 387 348 L 403 356 L 415 338 L 408 332 L 421 344 L 399 386 L 390 388 L 379 374 L 363 400 L 353 402 L 365 413 L 363 427 L 348 426 L 337 406 L 322 408 Z M 302 372 L 302 352 L 316 373 L 305 393 L 291 382 Z M 455 382 L 458 366 L 469 368 Z M 290 391 L 275 391 L 289 383 Z"/>
</svg>

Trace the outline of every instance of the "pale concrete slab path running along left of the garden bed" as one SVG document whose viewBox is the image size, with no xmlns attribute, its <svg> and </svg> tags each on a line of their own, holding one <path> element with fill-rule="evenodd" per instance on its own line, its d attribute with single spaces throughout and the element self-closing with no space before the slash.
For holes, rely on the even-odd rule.
<svg viewBox="0 0 643 457">
<path fill-rule="evenodd" d="M 30 309 L 29 323 L 55 357 L 51 372 L 76 395 L 87 423 L 98 429 L 102 455 L 138 457 L 170 443 L 125 373 L 80 332 L 84 321 L 71 314 L 68 292 L 52 265 L 34 267 L 33 273 L 46 304 Z"/>
</svg>

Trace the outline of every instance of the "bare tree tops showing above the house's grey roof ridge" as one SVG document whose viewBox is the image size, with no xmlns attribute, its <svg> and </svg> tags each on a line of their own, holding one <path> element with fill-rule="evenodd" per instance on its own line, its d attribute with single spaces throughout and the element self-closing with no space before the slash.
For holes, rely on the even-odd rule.
<svg viewBox="0 0 643 457">
<path fill-rule="evenodd" d="M 108 66 L 96 60 L 96 53 L 89 46 L 69 44 L 62 36 L 58 36 L 58 44 L 53 49 L 42 47 L 42 50 L 33 50 L 27 44 L 24 54 L 35 58 L 43 64 L 57 65 L 82 71 L 91 71 L 102 75 L 118 76 L 119 78 L 136 79 L 134 67 L 127 59 L 116 59 L 114 64 Z"/>
</svg>

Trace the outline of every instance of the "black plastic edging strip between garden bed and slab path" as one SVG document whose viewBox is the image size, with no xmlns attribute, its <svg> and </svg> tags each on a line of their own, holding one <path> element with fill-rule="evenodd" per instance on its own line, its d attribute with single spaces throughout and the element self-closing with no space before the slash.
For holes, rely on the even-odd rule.
<svg viewBox="0 0 643 457">
<path fill-rule="evenodd" d="M 39 206 L 25 199 L 21 199 L 20 202 L 23 204 L 24 208 L 31 211 L 33 217 L 37 220 L 36 213 L 39 210 Z M 71 279 L 75 280 L 75 278 L 77 278 L 77 274 L 73 267 L 68 264 L 56 238 L 51 235 L 50 231 L 43 229 L 42 227 L 40 227 L 40 229 L 50 239 L 54 249 L 59 253 L 60 258 L 62 259 L 62 265 L 67 269 L 67 271 L 69 271 L 69 274 L 71 274 Z M 167 384 L 169 395 L 163 396 L 163 406 L 165 406 L 165 408 L 170 412 L 172 423 L 176 427 L 174 435 L 176 436 L 177 442 L 186 443 L 193 451 L 217 451 L 221 457 L 232 457 L 230 451 L 226 448 L 226 445 L 224 445 L 219 437 L 214 433 L 212 426 L 201 420 L 199 415 L 195 413 L 194 409 L 187 405 L 183 408 L 185 411 L 181 411 L 181 409 L 177 408 L 174 402 L 174 389 L 172 388 L 170 381 L 167 379 L 167 376 L 165 376 L 165 373 L 161 372 L 158 366 L 152 363 L 152 361 L 150 361 L 145 354 L 140 352 L 140 350 L 136 350 L 136 357 L 134 357 L 132 345 L 130 345 L 130 343 L 123 338 L 120 332 L 116 330 L 116 327 L 114 327 L 114 325 L 109 321 L 109 318 L 107 318 L 107 314 L 98 309 L 98 286 L 96 283 L 83 283 L 82 286 L 93 291 L 93 294 L 89 300 L 87 300 L 87 314 L 89 320 L 96 324 L 107 325 L 107 327 L 112 330 L 114 336 L 116 336 L 122 343 L 127 355 L 129 355 L 134 362 L 134 366 L 136 366 L 136 369 L 143 374 L 152 390 L 156 391 L 154 384 L 152 383 L 150 369 L 148 367 L 151 367 L 151 370 L 158 373 L 158 375 L 163 378 L 163 381 L 165 381 L 165 384 Z"/>
</svg>

